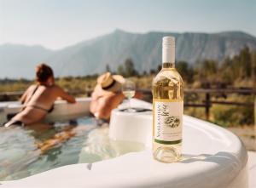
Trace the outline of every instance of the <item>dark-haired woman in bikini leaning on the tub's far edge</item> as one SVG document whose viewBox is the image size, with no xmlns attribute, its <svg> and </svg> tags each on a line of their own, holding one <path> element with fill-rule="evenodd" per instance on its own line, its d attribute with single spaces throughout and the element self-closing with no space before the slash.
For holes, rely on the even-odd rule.
<svg viewBox="0 0 256 188">
<path fill-rule="evenodd" d="M 5 123 L 5 127 L 41 122 L 54 109 L 55 100 L 59 97 L 69 103 L 75 103 L 73 96 L 55 84 L 54 72 L 49 66 L 37 66 L 36 81 L 37 83 L 27 88 L 20 98 L 24 105 L 22 111 Z"/>
</svg>

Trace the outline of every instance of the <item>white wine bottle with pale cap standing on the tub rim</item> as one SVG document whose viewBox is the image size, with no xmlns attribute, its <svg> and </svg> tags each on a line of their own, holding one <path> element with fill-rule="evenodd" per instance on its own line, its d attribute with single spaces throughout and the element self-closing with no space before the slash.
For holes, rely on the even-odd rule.
<svg viewBox="0 0 256 188">
<path fill-rule="evenodd" d="M 153 86 L 153 156 L 160 162 L 181 158 L 183 79 L 175 69 L 175 38 L 163 37 L 162 69 Z"/>
</svg>

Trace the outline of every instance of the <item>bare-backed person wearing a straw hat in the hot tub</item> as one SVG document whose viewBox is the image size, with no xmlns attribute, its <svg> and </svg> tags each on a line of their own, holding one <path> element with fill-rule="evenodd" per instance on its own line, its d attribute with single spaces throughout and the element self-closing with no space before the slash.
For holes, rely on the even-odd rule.
<svg viewBox="0 0 256 188">
<path fill-rule="evenodd" d="M 97 118 L 109 121 L 111 111 L 124 99 L 122 84 L 125 78 L 106 72 L 97 78 L 96 88 L 91 94 L 90 112 Z"/>
</svg>

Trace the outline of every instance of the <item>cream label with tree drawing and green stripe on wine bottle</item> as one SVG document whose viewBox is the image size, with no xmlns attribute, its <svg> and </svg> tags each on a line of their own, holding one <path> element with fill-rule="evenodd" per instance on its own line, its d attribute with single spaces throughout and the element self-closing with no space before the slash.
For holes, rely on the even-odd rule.
<svg viewBox="0 0 256 188">
<path fill-rule="evenodd" d="M 153 101 L 154 141 L 164 145 L 182 141 L 183 101 Z"/>
</svg>

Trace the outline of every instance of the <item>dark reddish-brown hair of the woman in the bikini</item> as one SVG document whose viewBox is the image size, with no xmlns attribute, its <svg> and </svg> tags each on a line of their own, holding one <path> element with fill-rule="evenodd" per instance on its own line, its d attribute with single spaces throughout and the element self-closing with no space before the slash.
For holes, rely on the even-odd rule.
<svg viewBox="0 0 256 188">
<path fill-rule="evenodd" d="M 49 77 L 54 77 L 52 69 L 44 63 L 39 64 L 36 69 L 38 83 L 45 83 Z"/>
</svg>

